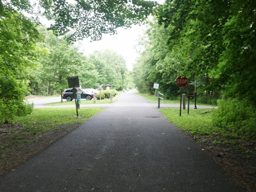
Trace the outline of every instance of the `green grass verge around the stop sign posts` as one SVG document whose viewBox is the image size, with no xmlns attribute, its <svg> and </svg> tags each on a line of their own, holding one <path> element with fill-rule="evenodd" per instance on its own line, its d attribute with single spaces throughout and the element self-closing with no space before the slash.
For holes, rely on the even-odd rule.
<svg viewBox="0 0 256 192">
<path fill-rule="evenodd" d="M 250 137 L 237 132 L 214 126 L 212 112 L 215 109 L 190 109 L 189 114 L 187 110 L 182 109 L 181 116 L 179 108 L 160 108 L 159 110 L 170 122 L 193 135 L 195 139 L 211 138 L 213 144 L 239 144 L 251 140 Z"/>
</svg>

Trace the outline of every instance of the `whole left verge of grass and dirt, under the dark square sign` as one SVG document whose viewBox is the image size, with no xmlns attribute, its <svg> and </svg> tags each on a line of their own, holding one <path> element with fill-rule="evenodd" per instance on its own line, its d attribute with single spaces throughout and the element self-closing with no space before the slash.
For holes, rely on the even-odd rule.
<svg viewBox="0 0 256 192">
<path fill-rule="evenodd" d="M 0 174 L 42 151 L 103 109 L 81 108 L 77 117 L 76 109 L 72 108 L 35 108 L 31 115 L 0 126 Z"/>
</svg>

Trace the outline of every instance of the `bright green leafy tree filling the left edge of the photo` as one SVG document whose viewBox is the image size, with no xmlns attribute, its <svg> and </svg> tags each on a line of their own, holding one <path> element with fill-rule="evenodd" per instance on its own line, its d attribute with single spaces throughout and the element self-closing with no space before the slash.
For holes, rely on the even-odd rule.
<svg viewBox="0 0 256 192">
<path fill-rule="evenodd" d="M 15 10 L 0 12 L 0 124 L 16 115 L 29 114 L 23 101 L 28 93 L 28 77 L 37 66 L 35 41 L 39 35 L 33 23 Z"/>
</svg>

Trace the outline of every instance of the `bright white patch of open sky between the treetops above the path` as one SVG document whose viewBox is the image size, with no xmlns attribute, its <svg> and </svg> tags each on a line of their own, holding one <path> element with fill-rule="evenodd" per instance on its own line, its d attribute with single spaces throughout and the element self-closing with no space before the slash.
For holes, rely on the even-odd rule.
<svg viewBox="0 0 256 192">
<path fill-rule="evenodd" d="M 163 4 L 165 0 L 156 0 L 159 4 Z M 81 52 L 85 55 L 90 55 L 94 51 L 106 49 L 114 50 L 121 54 L 126 61 L 128 70 L 132 70 L 132 65 L 139 57 L 139 53 L 135 50 L 135 45 L 138 44 L 138 39 L 143 35 L 145 26 L 133 26 L 129 29 L 117 29 L 116 35 L 103 34 L 101 41 L 90 42 L 90 39 L 79 41 Z"/>
</svg>

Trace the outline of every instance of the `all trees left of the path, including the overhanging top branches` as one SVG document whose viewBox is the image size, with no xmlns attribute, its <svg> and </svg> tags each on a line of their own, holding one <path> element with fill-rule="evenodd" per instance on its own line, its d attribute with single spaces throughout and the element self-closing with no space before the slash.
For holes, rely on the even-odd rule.
<svg viewBox="0 0 256 192">
<path fill-rule="evenodd" d="M 31 113 L 27 94 L 62 94 L 68 76 L 78 75 L 84 87 L 111 84 L 113 89 L 126 89 L 130 73 L 121 55 L 102 51 L 84 57 L 72 43 L 84 37 L 100 39 L 102 34 L 115 34 L 117 27 L 143 22 L 150 5 L 154 3 L 1 1 L 0 124 Z M 41 26 L 39 15 L 54 21 L 50 28 Z"/>
</svg>

